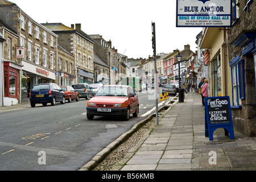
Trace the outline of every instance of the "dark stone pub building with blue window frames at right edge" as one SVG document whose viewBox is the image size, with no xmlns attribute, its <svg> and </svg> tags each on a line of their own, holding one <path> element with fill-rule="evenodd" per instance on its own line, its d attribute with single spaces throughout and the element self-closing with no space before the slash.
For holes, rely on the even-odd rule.
<svg viewBox="0 0 256 182">
<path fill-rule="evenodd" d="M 234 127 L 256 136 L 256 2 L 234 0 L 232 28 L 226 32 L 230 102 Z"/>
</svg>

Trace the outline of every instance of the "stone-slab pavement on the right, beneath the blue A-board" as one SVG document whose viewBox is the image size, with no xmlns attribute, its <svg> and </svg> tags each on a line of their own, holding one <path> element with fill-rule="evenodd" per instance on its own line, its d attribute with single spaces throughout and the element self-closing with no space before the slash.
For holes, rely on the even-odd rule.
<svg viewBox="0 0 256 182">
<path fill-rule="evenodd" d="M 201 96 L 185 94 L 159 116 L 137 146 L 131 148 L 112 171 L 255 171 L 256 137 L 234 129 L 235 139 L 224 129 L 205 137 L 205 110 Z"/>
</svg>

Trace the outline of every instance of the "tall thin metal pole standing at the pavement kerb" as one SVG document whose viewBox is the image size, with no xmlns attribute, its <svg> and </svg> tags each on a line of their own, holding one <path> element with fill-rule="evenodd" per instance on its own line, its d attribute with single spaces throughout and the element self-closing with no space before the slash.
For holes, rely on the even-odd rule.
<svg viewBox="0 0 256 182">
<path fill-rule="evenodd" d="M 155 23 L 152 23 L 152 46 L 154 49 L 154 69 L 155 69 L 155 121 L 156 121 L 156 125 L 158 125 L 158 92 L 157 92 L 157 88 L 158 86 L 156 86 L 156 84 L 158 84 L 156 82 L 156 43 L 155 43 Z"/>
</svg>

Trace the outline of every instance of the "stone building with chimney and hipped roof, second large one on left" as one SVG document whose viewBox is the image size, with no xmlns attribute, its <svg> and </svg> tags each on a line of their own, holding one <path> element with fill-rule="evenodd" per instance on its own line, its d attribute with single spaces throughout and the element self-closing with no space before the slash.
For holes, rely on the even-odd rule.
<svg viewBox="0 0 256 182">
<path fill-rule="evenodd" d="M 81 24 L 42 23 L 42 25 L 58 35 L 58 44 L 74 56 L 72 65 L 75 83 L 93 83 L 93 46 L 94 40 L 81 30 Z M 70 64 L 68 65 L 70 66 Z"/>
</svg>

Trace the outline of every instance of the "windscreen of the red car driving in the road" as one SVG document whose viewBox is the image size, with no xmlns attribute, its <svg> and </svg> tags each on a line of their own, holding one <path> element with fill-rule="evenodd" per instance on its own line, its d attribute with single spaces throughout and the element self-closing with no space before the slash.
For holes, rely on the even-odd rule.
<svg viewBox="0 0 256 182">
<path fill-rule="evenodd" d="M 124 86 L 101 86 L 96 96 L 119 96 L 127 97 L 127 88 Z"/>
</svg>

